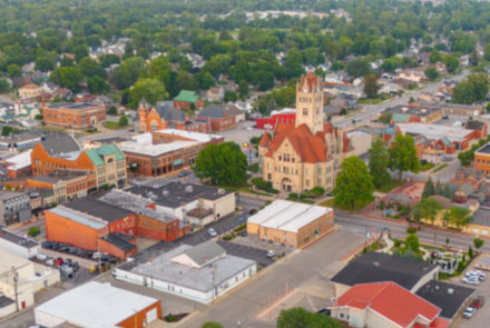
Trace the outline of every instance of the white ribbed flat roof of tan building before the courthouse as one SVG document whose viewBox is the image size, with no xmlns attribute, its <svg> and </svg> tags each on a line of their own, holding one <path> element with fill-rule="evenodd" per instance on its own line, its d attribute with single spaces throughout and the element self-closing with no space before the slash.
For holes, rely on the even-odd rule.
<svg viewBox="0 0 490 328">
<path fill-rule="evenodd" d="M 248 218 L 248 222 L 262 227 L 297 232 L 332 209 L 288 200 L 275 200 L 263 210 Z"/>
</svg>

